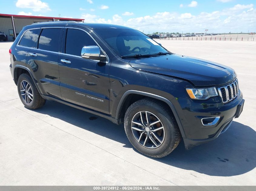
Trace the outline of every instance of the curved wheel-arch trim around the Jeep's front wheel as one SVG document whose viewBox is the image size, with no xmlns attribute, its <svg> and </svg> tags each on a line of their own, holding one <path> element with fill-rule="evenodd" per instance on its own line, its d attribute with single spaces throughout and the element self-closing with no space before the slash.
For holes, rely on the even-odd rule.
<svg viewBox="0 0 256 191">
<path fill-rule="evenodd" d="M 139 94 L 139 95 L 144 95 L 144 96 L 147 96 L 147 97 L 152 97 L 152 98 L 155 98 L 157 100 L 161 100 L 161 101 L 164 101 L 165 103 L 168 104 L 168 106 L 171 108 L 171 111 L 172 113 L 174 114 L 174 117 L 178 123 L 178 127 L 180 129 L 180 132 L 181 132 L 181 136 L 183 138 L 186 138 L 186 135 L 185 135 L 185 131 L 183 129 L 183 126 L 181 124 L 181 120 L 178 116 L 178 113 L 174 107 L 174 105 L 171 103 L 170 100 L 166 99 L 165 97 L 161 97 L 161 96 L 158 96 L 158 95 L 155 95 L 155 94 L 151 94 L 151 93 L 147 93 L 147 92 L 143 92 L 143 91 L 137 91 L 137 90 L 128 90 L 126 91 L 123 96 L 121 97 L 121 100 L 120 102 L 118 103 L 118 106 L 117 106 L 117 110 L 116 110 L 116 116 L 115 116 L 115 119 L 118 119 L 118 114 L 121 110 L 121 105 L 123 103 L 123 101 L 125 100 L 126 96 L 128 96 L 129 94 Z"/>
</svg>

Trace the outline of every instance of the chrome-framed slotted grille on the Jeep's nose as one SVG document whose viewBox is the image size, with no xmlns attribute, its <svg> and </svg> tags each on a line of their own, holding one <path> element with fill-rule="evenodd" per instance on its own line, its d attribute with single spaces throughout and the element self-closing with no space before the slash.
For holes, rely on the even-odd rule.
<svg viewBox="0 0 256 191">
<path fill-rule="evenodd" d="M 231 100 L 234 100 L 234 98 L 236 98 L 239 93 L 237 79 L 231 84 L 218 88 L 218 92 L 221 96 L 223 103 L 227 103 Z"/>
</svg>

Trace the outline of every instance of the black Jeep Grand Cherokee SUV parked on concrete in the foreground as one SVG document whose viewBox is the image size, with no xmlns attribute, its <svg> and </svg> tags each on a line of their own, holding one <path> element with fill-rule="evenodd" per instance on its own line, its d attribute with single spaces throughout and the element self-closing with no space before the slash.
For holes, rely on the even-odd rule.
<svg viewBox="0 0 256 191">
<path fill-rule="evenodd" d="M 160 158 L 226 131 L 243 109 L 233 69 L 169 52 L 128 27 L 74 21 L 26 26 L 9 50 L 28 109 L 46 100 L 124 123 L 131 144 Z"/>
</svg>

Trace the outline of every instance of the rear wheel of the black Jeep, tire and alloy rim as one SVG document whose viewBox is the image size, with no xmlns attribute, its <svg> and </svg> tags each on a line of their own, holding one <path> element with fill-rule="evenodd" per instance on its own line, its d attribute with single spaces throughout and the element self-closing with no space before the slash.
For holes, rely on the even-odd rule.
<svg viewBox="0 0 256 191">
<path fill-rule="evenodd" d="M 26 108 L 35 110 L 45 104 L 46 100 L 41 97 L 32 78 L 28 74 L 21 74 L 19 76 L 17 88 L 19 97 Z"/>
</svg>

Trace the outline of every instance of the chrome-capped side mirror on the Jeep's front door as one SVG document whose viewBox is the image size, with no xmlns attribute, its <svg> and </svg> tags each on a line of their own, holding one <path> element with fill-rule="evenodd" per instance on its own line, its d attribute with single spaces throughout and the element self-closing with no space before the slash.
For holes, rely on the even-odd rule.
<svg viewBox="0 0 256 191">
<path fill-rule="evenodd" d="M 84 46 L 81 51 L 81 57 L 91 60 L 106 60 L 106 56 L 101 55 L 101 51 L 98 46 Z"/>
</svg>

